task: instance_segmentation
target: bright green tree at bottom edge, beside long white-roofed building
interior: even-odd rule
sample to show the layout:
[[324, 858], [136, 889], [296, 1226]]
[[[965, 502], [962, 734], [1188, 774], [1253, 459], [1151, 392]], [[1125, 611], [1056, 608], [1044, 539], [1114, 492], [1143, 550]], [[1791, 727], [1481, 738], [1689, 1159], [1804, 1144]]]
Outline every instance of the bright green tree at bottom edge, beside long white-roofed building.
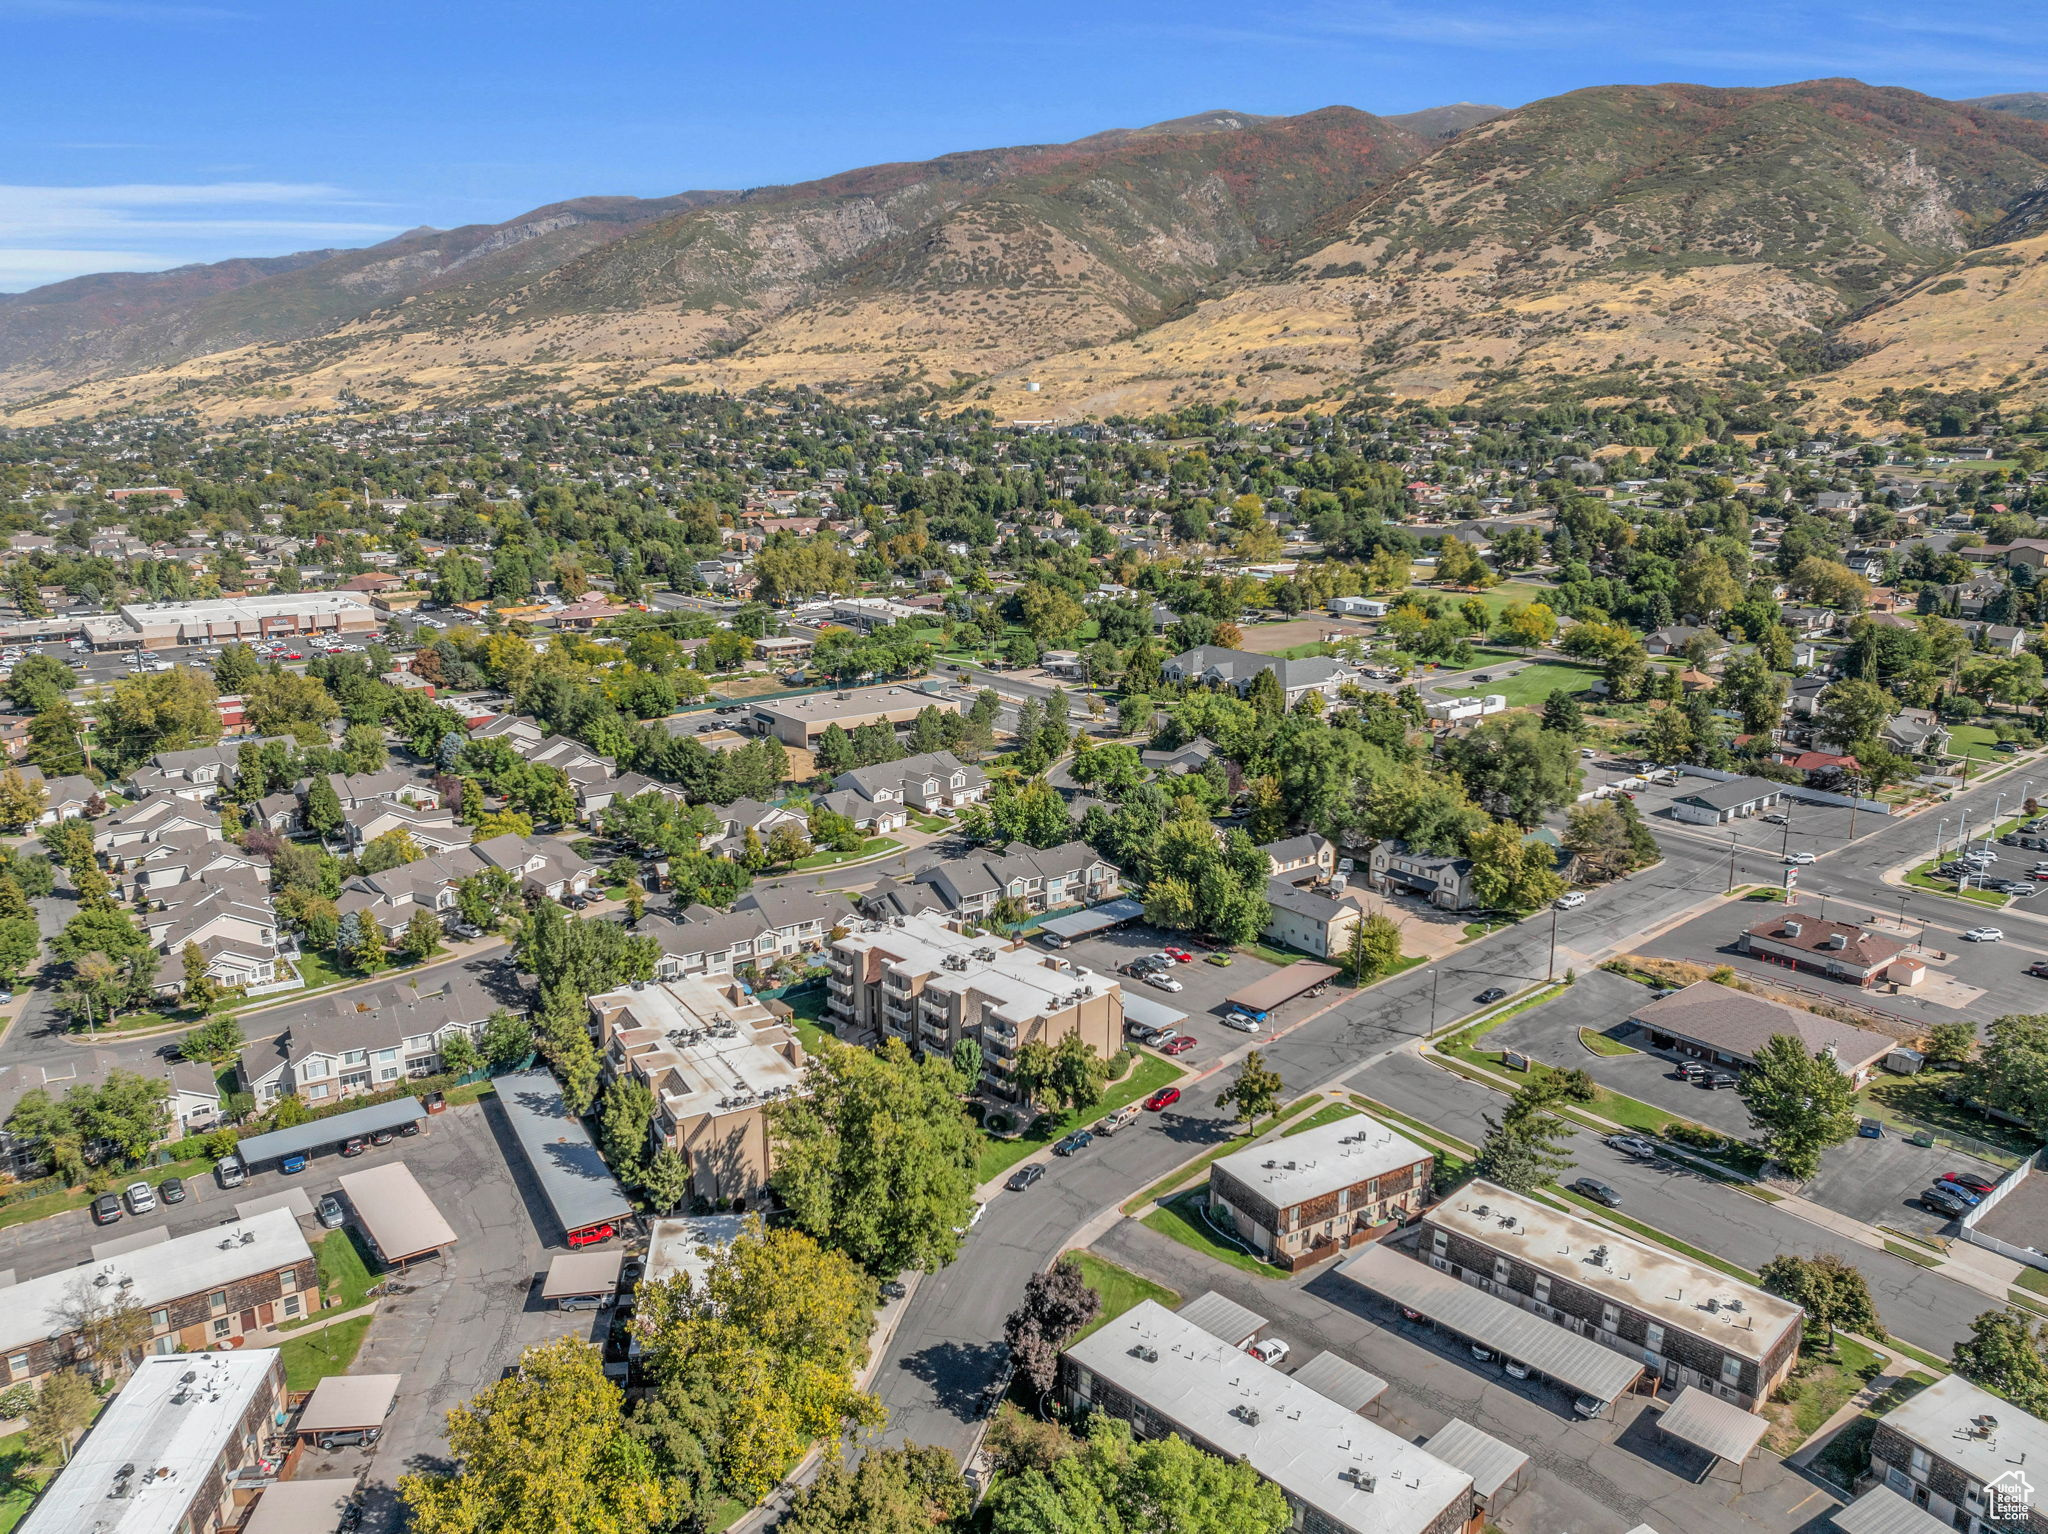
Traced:
[[1280, 1534], [1294, 1520], [1286, 1493], [1245, 1460], [1178, 1434], [1139, 1444], [1108, 1413], [1051, 1468], [997, 1481], [983, 1507], [989, 1534]]

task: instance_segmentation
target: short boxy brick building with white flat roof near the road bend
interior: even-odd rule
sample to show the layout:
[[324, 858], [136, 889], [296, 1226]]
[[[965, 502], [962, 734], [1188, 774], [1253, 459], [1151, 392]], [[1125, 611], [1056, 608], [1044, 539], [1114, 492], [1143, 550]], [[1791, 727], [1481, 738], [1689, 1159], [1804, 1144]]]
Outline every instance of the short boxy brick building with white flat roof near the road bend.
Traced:
[[1436, 1157], [1356, 1114], [1208, 1167], [1208, 1219], [1298, 1268], [1421, 1212]]

